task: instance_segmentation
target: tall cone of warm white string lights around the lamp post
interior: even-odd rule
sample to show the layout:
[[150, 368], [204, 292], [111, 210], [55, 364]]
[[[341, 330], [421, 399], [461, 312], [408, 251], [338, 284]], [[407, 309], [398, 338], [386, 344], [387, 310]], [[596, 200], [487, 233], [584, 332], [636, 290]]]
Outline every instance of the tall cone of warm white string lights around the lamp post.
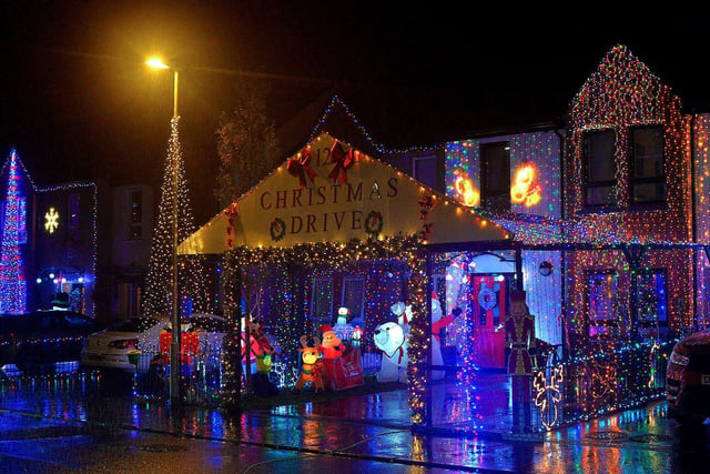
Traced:
[[[173, 295], [169, 289], [173, 288], [174, 188], [176, 188], [178, 192], [178, 242], [182, 242], [196, 230], [185, 180], [185, 168], [178, 130], [179, 121], [180, 117], [173, 117], [171, 121], [168, 158], [158, 208], [158, 224], [153, 233], [145, 294], [141, 307], [143, 315], [168, 315], [172, 313]], [[173, 185], [173, 179], [175, 179], [173, 173], [176, 173], [176, 186]], [[181, 313], [190, 314], [191, 312], [210, 311], [205, 282], [205, 256], [179, 255], [178, 297]]]

